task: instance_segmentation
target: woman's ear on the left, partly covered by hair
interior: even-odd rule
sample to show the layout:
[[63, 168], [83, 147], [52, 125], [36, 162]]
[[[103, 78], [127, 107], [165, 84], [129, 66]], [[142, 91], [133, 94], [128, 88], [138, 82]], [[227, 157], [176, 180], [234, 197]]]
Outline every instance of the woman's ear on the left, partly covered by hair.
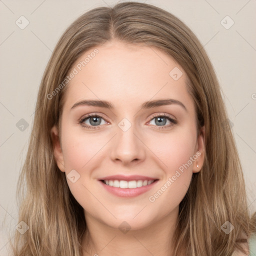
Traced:
[[58, 128], [56, 125], [54, 125], [50, 129], [50, 136], [53, 144], [53, 154], [54, 154], [55, 161], [58, 165], [58, 168], [61, 171], [65, 172], [64, 158], [63, 158], [62, 148], [59, 141]]

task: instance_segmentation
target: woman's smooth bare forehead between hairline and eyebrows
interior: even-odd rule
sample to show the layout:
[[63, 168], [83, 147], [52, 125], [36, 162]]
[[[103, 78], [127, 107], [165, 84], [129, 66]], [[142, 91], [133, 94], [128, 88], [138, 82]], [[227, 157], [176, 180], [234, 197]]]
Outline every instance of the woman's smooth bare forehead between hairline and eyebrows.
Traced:
[[116, 101], [116, 107], [160, 98], [186, 101], [188, 108], [193, 104], [182, 67], [151, 46], [110, 41], [84, 52], [71, 70], [75, 75], [67, 85], [64, 108], [83, 99]]

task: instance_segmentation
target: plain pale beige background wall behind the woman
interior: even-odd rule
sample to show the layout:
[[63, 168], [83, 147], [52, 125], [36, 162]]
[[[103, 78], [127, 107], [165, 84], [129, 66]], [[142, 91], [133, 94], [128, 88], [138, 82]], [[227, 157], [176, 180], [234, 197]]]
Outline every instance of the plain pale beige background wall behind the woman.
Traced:
[[[51, 52], [64, 29], [79, 15], [116, 2], [0, 0], [0, 255], [6, 254], [8, 246], [6, 228], [14, 229], [17, 225], [16, 182], [27, 150], [39, 83]], [[139, 2], [173, 13], [204, 45], [232, 123], [249, 210], [255, 211], [256, 0]], [[20, 16], [29, 21], [24, 29], [15, 23]], [[16, 126], [21, 118], [28, 123], [23, 131]]]

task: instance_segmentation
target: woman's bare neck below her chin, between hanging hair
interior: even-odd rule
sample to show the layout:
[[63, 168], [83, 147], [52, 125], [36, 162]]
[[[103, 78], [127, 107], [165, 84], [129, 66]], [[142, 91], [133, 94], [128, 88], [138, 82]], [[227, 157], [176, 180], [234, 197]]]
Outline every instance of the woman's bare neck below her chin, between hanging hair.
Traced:
[[83, 256], [154, 255], [173, 253], [173, 234], [178, 207], [148, 226], [128, 231], [112, 228], [85, 214], [87, 229], [82, 239]]

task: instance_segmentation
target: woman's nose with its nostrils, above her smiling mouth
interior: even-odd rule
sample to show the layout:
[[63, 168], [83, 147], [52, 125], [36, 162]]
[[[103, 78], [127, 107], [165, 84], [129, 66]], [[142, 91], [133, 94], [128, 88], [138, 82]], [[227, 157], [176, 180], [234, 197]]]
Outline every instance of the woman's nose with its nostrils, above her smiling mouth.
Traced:
[[134, 125], [123, 131], [117, 127], [117, 134], [114, 136], [111, 145], [111, 159], [119, 161], [123, 165], [131, 162], [143, 161], [145, 158], [145, 144], [139, 132], [136, 132]]

